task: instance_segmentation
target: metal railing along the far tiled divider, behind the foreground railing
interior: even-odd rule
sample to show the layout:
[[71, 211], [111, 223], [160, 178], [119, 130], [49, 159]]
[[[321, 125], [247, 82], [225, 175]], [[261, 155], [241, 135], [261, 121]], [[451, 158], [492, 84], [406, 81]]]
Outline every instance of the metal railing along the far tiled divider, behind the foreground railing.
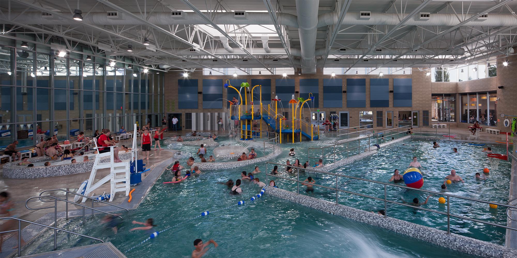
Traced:
[[[388, 134], [386, 134], [386, 132], [389, 132], [389, 131], [397, 131], [396, 133], [393, 133], [393, 134], [390, 134], [390, 135], [389, 135], [389, 136], [391, 136], [391, 137], [393, 137], [393, 136], [394, 136], [394, 138], [396, 138], [396, 139], [397, 139], [397, 138], [399, 138], [399, 137], [400, 137], [400, 134], [405, 134], [405, 133], [407, 132], [407, 131], [399, 132], [399, 128], [404, 128], [404, 127], [407, 127], [407, 126], [391, 128], [391, 129], [389, 129], [389, 130], [385, 130], [385, 131], [381, 131], [381, 132], [377, 132], [377, 133], [370, 133], [370, 134], [367, 134], [367, 135], [366, 135], [366, 136], [367, 136], [366, 138], [362, 138], [362, 139], [356, 139], [356, 140], [353, 140], [353, 141], [347, 141], [347, 142], [335, 143], [335, 144], [327, 145], [327, 146], [324, 146], [324, 147], [308, 148], [308, 149], [307, 149], [307, 157], [308, 157], [308, 159], [309, 159], [309, 163], [310, 163], [311, 158], [323, 159], [323, 158], [330, 157], [330, 156], [332, 156], [332, 162], [335, 162], [335, 161], [336, 161], [336, 158], [337, 158], [337, 155], [338, 155], [338, 154], [341, 154], [341, 153], [344, 153], [344, 152], [346, 152], [346, 157], [349, 157], [349, 153], [350, 153], [350, 151], [352, 151], [352, 150], [359, 149], [359, 148], [361, 148], [361, 147], [366, 147], [366, 146], [368, 146], [368, 149], [369, 149], [370, 147], [372, 147], [372, 137], [373, 137], [373, 136], [376, 136], [376, 135], [378, 135], [378, 136], [381, 136], [381, 135], [388, 135]], [[384, 133], [384, 134], [383, 134], [383, 133]], [[366, 139], [368, 139], [368, 144], [364, 143], [364, 144], [362, 144], [362, 145], [361, 145], [361, 140], [366, 140]], [[379, 144], [379, 143], [380, 143], [380, 142], [379, 142], [379, 140], [380, 140], [380, 139], [381, 139], [380, 137], [377, 137], [377, 138], [376, 138], [376, 144]], [[351, 143], [351, 142], [355, 142], [355, 141], [358, 141], [358, 142], [359, 142], [359, 146], [358, 146], [358, 147], [354, 147], [354, 148], [350, 149], [350, 148], [349, 148], [349, 143]], [[337, 147], [339, 148], [340, 146], [344, 146], [344, 144], [346, 144], [346, 149], [345, 149], [345, 150], [343, 150], [343, 151], [339, 151], [339, 150], [338, 150], [338, 152], [336, 152], [336, 148], [337, 148]], [[332, 151], [330, 154], [325, 155], [325, 150], [327, 150], [327, 149], [329, 149], [329, 148], [332, 148], [332, 149], [333, 149], [333, 151]], [[321, 155], [321, 156], [311, 156], [311, 150], [321, 150], [322, 155]], [[325, 163], [325, 160], [323, 160], [323, 163]]]

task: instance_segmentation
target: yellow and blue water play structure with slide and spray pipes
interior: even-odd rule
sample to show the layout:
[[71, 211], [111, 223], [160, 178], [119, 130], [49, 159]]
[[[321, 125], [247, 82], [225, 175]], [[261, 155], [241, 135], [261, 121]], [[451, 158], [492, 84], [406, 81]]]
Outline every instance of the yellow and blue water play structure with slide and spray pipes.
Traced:
[[[253, 98], [253, 92], [256, 87], [259, 89], [258, 103], [254, 103], [256, 98]], [[303, 105], [308, 101], [314, 100], [312, 93], [309, 93], [307, 100], [301, 97], [295, 98], [295, 94], [293, 94], [291, 100], [288, 101], [291, 110], [284, 112], [282, 100], [278, 96], [275, 96], [275, 99], [271, 99], [267, 107], [263, 105], [262, 85], [255, 85], [250, 88], [248, 83], [241, 83], [240, 89], [237, 89], [230, 84], [230, 80], [226, 80], [224, 88], [234, 89], [239, 95], [237, 103], [230, 101], [230, 119], [234, 121], [234, 128], [240, 128], [236, 130], [240, 130], [241, 140], [252, 140], [257, 135], [262, 137], [263, 131], [265, 131], [263, 130], [262, 121], [267, 125], [267, 131], [279, 133], [280, 143], [282, 143], [283, 138], [292, 143], [295, 142], [296, 138], [298, 138], [296, 139], [297, 141], [301, 141], [302, 137], [308, 140], [317, 140], [319, 138], [320, 128], [301, 120]], [[243, 89], [244, 99], [241, 94]], [[250, 94], [249, 100], [248, 92]], [[283, 114], [288, 115], [286, 117]]]

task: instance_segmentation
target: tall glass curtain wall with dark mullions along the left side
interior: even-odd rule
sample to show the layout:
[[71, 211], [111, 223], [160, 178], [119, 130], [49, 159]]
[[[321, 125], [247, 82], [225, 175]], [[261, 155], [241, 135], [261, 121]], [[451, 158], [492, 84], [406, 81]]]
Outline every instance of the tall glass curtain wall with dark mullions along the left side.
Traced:
[[14, 140], [19, 148], [34, 146], [54, 134], [65, 140], [81, 131], [93, 136], [102, 128], [161, 124], [163, 74], [124, 63], [111, 67], [105, 58], [54, 54], [44, 45], [0, 43], [0, 148]]

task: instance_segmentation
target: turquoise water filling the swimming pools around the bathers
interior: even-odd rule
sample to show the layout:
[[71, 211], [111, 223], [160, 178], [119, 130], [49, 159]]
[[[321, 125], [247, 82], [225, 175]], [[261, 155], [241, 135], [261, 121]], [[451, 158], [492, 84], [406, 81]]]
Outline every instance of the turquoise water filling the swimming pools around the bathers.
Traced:
[[[229, 144], [233, 141], [229, 138], [220, 137], [219, 142]], [[285, 163], [286, 159], [293, 162], [295, 158], [298, 158], [303, 163], [307, 160], [307, 148], [309, 146], [321, 147], [328, 145], [329, 142], [331, 142], [331, 139], [322, 137], [322, 140], [315, 142], [284, 143], [281, 146], [282, 154], [271, 161]], [[403, 143], [406, 145], [402, 145]], [[377, 154], [357, 160], [332, 172], [387, 182], [394, 168], [403, 170], [408, 165], [410, 157], [419, 156], [419, 160], [424, 167], [425, 183], [423, 189], [439, 191], [439, 185], [442, 184], [444, 176], [448, 174], [450, 169], [455, 168], [458, 174], [466, 180], [466, 183], [450, 185], [448, 191], [465, 197], [497, 202], [507, 201], [510, 171], [508, 164], [501, 161], [498, 170], [492, 171], [488, 180], [475, 181], [474, 173], [488, 165], [486, 155], [480, 153], [482, 147], [469, 146], [465, 142], [458, 141], [442, 140], [439, 143], [442, 147], [433, 149], [429, 141], [406, 140], [395, 143], [391, 147], [383, 148]], [[358, 146], [358, 143], [354, 142], [349, 144], [349, 148], [353, 148], [353, 144]], [[452, 153], [453, 147], [459, 149], [458, 154]], [[295, 157], [287, 155], [291, 148], [295, 148], [297, 152]], [[502, 147], [497, 146], [492, 146], [492, 148], [495, 153], [500, 153], [503, 150]], [[181, 150], [185, 153], [195, 154], [197, 147], [184, 146]], [[208, 155], [211, 154], [211, 150], [213, 148], [208, 148]], [[260, 149], [256, 149], [256, 151], [260, 156], [262, 151]], [[346, 157], [346, 153], [341, 155]], [[449, 160], [450, 157], [454, 159]], [[199, 158], [196, 158], [196, 160], [199, 160]], [[181, 162], [185, 165], [184, 160], [181, 160]], [[256, 165], [263, 172], [255, 176], [266, 182], [265, 165]], [[99, 216], [96, 219], [90, 219], [84, 226], [80, 219], [74, 219], [65, 228], [112, 241], [128, 257], [186, 257], [193, 250], [192, 242], [195, 238], [202, 238], [203, 240], [213, 238], [216, 240], [220, 246], [216, 249], [212, 248], [207, 255], [215, 257], [465, 257], [464, 254], [437, 248], [418, 240], [315, 211], [282, 199], [270, 197], [267, 194], [264, 198], [250, 203], [248, 201], [249, 197], [255, 195], [261, 188], [249, 182], [243, 183], [244, 194], [242, 196], [230, 195], [229, 189], [225, 185], [218, 184], [228, 179], [235, 181], [239, 178], [240, 171], [250, 172], [253, 168], [254, 165], [232, 170], [203, 171], [199, 177], [189, 179], [185, 183], [163, 185], [162, 182], [170, 181], [172, 178], [171, 172], [168, 171], [151, 188], [136, 211], [123, 214], [126, 221], [121, 225], [117, 235], [102, 228], [99, 223]], [[268, 166], [268, 168], [271, 170], [272, 166]], [[279, 171], [283, 170], [279, 169]], [[294, 177], [294, 175], [283, 172], [281, 175]], [[307, 177], [308, 175], [313, 176], [317, 180], [317, 184], [335, 186], [333, 177], [316, 173], [306, 173], [303, 176]], [[302, 175], [300, 175], [300, 178], [302, 178]], [[280, 188], [296, 191], [297, 186], [293, 182], [275, 180]], [[366, 195], [384, 197], [384, 188], [372, 184], [340, 179], [338, 187]], [[315, 188], [314, 197], [335, 201], [334, 192], [324, 188]], [[303, 187], [300, 189], [300, 192], [305, 194]], [[389, 199], [399, 201], [401, 197], [407, 201], [415, 197], [424, 199], [424, 195], [416, 190], [388, 188]], [[424, 207], [445, 211], [446, 206], [438, 204], [437, 199], [438, 197], [432, 197]], [[143, 221], [146, 218], [154, 218], [158, 224], [156, 230], [161, 231], [198, 216], [203, 211], [224, 208], [235, 204], [239, 200], [246, 200], [246, 205], [234, 206], [212, 213], [207, 217], [190, 220], [179, 227], [161, 233], [158, 238], [126, 252], [148, 236], [148, 233], [145, 232], [128, 232], [130, 228], [135, 227], [130, 222], [133, 219]], [[384, 208], [384, 202], [345, 193], [339, 194], [339, 202], [366, 211]], [[451, 212], [492, 222], [502, 223], [506, 221], [504, 209], [494, 210], [485, 204], [478, 205], [461, 200], [451, 199]], [[442, 215], [422, 211], [414, 212], [412, 208], [388, 204], [388, 216], [446, 230], [447, 219]], [[66, 222], [62, 222], [60, 225], [64, 223]], [[451, 231], [498, 244], [503, 242], [505, 233], [504, 230], [495, 227], [453, 218], [451, 218]], [[47, 236], [51, 237], [52, 233], [47, 233]], [[66, 234], [59, 234], [59, 237], [59, 248], [94, 243], [89, 240], [79, 240], [75, 236], [67, 236]], [[38, 239], [37, 243], [29, 247], [25, 254], [47, 251], [43, 250], [44, 248], [48, 248], [50, 251], [52, 245], [45, 244], [48, 239], [47, 237]], [[37, 248], [38, 246], [39, 248]]]

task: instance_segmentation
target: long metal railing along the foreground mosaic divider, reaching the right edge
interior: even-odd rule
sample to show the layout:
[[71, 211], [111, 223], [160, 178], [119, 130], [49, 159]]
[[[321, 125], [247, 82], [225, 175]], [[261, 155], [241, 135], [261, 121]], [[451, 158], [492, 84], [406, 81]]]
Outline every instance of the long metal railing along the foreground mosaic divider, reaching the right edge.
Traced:
[[[278, 174], [277, 175], [275, 175], [275, 174], [268, 174], [267, 173], [267, 171], [269, 171], [268, 168], [267, 168], [268, 164], [272, 164], [272, 165], [276, 165], [276, 166], [284, 166], [284, 167], [294, 168], [293, 170], [296, 170], [296, 179], [286, 178], [285, 176], [281, 176], [281, 175], [278, 175]], [[322, 188], [329, 189], [329, 190], [335, 190], [336, 191], [336, 204], [339, 204], [338, 192], [344, 192], [344, 193], [348, 193], [348, 194], [351, 194], [351, 195], [366, 197], [366, 198], [370, 198], [370, 199], [374, 199], [374, 200], [378, 200], [378, 201], [384, 201], [384, 217], [388, 216], [387, 215], [388, 214], [388, 206], [387, 206], [388, 203], [399, 204], [399, 205], [406, 206], [406, 207], [412, 207], [412, 208], [415, 208], [415, 209], [421, 209], [422, 211], [427, 211], [427, 212], [432, 212], [432, 213], [437, 213], [437, 214], [445, 215], [445, 216], [447, 216], [447, 234], [450, 234], [450, 218], [451, 217], [459, 218], [459, 219], [465, 219], [465, 220], [469, 220], [469, 221], [474, 221], [474, 222], [478, 222], [478, 223], [482, 223], [482, 224], [493, 225], [493, 226], [496, 226], [496, 227], [499, 227], [499, 228], [504, 228], [504, 229], [509, 229], [509, 230], [517, 230], [517, 228], [508, 227], [506, 225], [501, 225], [501, 224], [496, 224], [496, 223], [492, 223], [492, 222], [488, 222], [488, 221], [483, 221], [483, 220], [479, 220], [479, 219], [467, 218], [467, 217], [463, 217], [463, 216], [460, 216], [460, 215], [451, 214], [450, 213], [450, 198], [458, 198], [458, 199], [462, 199], [462, 200], [474, 201], [474, 202], [485, 203], [485, 204], [494, 204], [494, 205], [508, 207], [508, 208], [517, 208], [517, 206], [503, 204], [503, 203], [497, 203], [497, 202], [483, 201], [483, 200], [478, 200], [478, 199], [468, 198], [468, 197], [462, 197], [462, 196], [456, 196], [456, 195], [451, 195], [450, 193], [446, 193], [446, 192], [436, 192], [436, 191], [430, 191], [430, 190], [417, 189], [417, 188], [412, 188], [412, 187], [408, 187], [408, 186], [395, 185], [395, 184], [384, 183], [384, 182], [379, 182], [379, 181], [374, 181], [374, 180], [369, 180], [369, 179], [355, 178], [354, 176], [349, 176], [349, 175], [342, 175], [342, 174], [336, 174], [336, 173], [331, 173], [331, 172], [318, 171], [318, 170], [314, 170], [314, 169], [310, 169], [310, 168], [303, 168], [303, 170], [305, 170], [305, 171], [310, 171], [310, 172], [314, 172], [314, 173], [323, 173], [323, 174], [335, 176], [336, 177], [336, 187], [332, 188], [332, 187], [328, 187], [328, 186], [324, 186], [324, 185], [318, 185], [318, 184], [312, 184], [312, 183], [309, 183], [309, 182], [300, 181], [299, 169], [300, 169], [299, 167], [296, 167], [296, 166], [293, 166], [293, 165], [285, 165], [285, 164], [279, 164], [279, 163], [273, 163], [273, 162], [266, 162], [266, 182], [268, 182], [268, 180], [269, 180], [268, 176], [273, 176], [275, 178], [280, 178], [280, 179], [285, 179], [285, 180], [288, 180], [288, 181], [297, 182], [298, 194], [300, 194], [300, 183], [308, 184], [308, 185], [312, 185], [312, 186], [317, 186], [317, 187], [322, 187]], [[351, 180], [359, 180], [359, 181], [363, 181], [363, 182], [369, 182], [369, 183], [375, 183], [375, 184], [383, 185], [384, 186], [384, 198], [378, 198], [378, 197], [373, 197], [373, 196], [369, 196], [369, 195], [363, 195], [362, 193], [357, 193], [357, 192], [352, 192], [352, 191], [347, 191], [347, 190], [339, 189], [338, 188], [338, 178], [346, 178], [346, 179], [351, 179]], [[409, 189], [410, 190], [417, 190], [417, 191], [421, 191], [421, 192], [427, 192], [427, 193], [430, 193], [432, 195], [446, 196], [447, 197], [447, 199], [446, 199], [447, 200], [447, 212], [435, 211], [433, 209], [422, 208], [420, 206], [414, 206], [414, 205], [410, 205], [410, 204], [406, 204], [406, 203], [401, 203], [401, 202], [396, 202], [396, 201], [388, 200], [386, 198], [386, 196], [387, 196], [386, 187], [387, 186], [398, 187], [398, 188], [408, 189], [408, 190]]]

